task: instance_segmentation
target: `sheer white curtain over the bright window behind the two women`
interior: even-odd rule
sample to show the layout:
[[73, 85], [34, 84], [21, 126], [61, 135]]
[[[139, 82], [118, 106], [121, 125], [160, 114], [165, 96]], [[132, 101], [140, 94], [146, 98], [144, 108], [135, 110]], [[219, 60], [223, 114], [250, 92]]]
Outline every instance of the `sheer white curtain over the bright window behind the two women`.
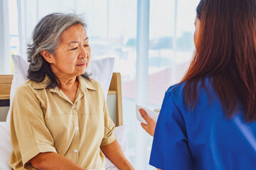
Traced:
[[32, 30], [43, 16], [74, 11], [84, 15], [92, 58], [115, 57], [114, 72], [122, 74], [129, 159], [135, 169], [154, 169], [149, 166], [152, 137], [140, 127], [135, 104], [160, 108], [166, 89], [183, 77], [193, 55], [199, 0], [9, 1], [16, 1], [18, 8], [17, 53], [24, 58]]

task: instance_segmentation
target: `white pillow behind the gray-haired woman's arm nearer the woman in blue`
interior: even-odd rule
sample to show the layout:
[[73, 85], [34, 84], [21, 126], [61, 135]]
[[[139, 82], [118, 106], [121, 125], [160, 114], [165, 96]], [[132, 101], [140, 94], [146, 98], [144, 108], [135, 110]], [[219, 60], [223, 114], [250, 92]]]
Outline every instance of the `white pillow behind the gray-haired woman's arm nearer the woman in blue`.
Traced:
[[[128, 149], [127, 149], [126, 127], [125, 127], [125, 125], [117, 126], [116, 128], [114, 128], [113, 132], [114, 132], [114, 137], [117, 139], [117, 142], [119, 143], [119, 145], [122, 149], [122, 152], [124, 152], [124, 156], [128, 159], [129, 158], [129, 152], [128, 152]], [[115, 166], [110, 161], [110, 159], [108, 159], [107, 157], [105, 157], [105, 159], [106, 159], [105, 167], [106, 167], [107, 170], [119, 170], [117, 168], [117, 166]]]

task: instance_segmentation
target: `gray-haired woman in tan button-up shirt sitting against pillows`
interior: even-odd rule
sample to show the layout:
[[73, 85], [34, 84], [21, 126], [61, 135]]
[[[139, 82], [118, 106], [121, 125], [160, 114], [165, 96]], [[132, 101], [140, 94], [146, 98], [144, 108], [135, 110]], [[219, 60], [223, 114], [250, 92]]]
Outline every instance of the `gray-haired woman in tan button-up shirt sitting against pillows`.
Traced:
[[[100, 84], [85, 73], [86, 24], [75, 14], [39, 21], [28, 45], [28, 81], [11, 108], [13, 169], [133, 169], [112, 130]], [[104, 153], [104, 154], [103, 154]]]

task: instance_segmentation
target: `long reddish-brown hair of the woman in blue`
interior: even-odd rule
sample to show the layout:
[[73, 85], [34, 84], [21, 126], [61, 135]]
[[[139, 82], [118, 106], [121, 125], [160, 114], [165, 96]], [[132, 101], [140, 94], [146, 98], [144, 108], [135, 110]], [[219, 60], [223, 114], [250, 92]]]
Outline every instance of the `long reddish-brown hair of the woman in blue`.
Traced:
[[245, 120], [256, 120], [256, 1], [201, 0], [197, 14], [198, 47], [182, 80], [188, 107], [210, 77], [228, 118], [242, 104]]

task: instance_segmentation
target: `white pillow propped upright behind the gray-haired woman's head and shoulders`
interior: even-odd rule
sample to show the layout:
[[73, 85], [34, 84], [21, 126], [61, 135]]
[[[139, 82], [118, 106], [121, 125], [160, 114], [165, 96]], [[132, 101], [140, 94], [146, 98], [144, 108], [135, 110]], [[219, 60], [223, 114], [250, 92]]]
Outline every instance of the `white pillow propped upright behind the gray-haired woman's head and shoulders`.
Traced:
[[[10, 93], [10, 106], [14, 100], [14, 94], [18, 86], [21, 86], [27, 78], [28, 71], [28, 62], [24, 60], [19, 55], [12, 55], [14, 61], [14, 79], [11, 84], [11, 93]], [[102, 85], [102, 89], [107, 99], [107, 92], [110, 88], [110, 81], [113, 74], [114, 68], [114, 57], [107, 57], [100, 60], [90, 60], [90, 64], [86, 69], [88, 74], [91, 74], [90, 78], [95, 79]], [[11, 107], [10, 107], [11, 108]], [[6, 122], [10, 122], [10, 112], [9, 109]]]

